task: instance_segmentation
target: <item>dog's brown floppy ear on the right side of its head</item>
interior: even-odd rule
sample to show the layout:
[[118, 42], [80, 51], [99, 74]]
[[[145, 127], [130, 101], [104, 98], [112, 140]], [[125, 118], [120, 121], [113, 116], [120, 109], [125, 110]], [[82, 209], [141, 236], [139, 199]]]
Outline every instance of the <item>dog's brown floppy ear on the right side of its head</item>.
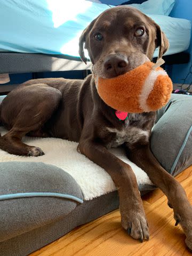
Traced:
[[156, 26], [156, 47], [159, 47], [158, 58], [162, 58], [163, 54], [169, 49], [169, 41], [166, 38], [165, 34], [161, 30], [161, 28], [155, 24]]

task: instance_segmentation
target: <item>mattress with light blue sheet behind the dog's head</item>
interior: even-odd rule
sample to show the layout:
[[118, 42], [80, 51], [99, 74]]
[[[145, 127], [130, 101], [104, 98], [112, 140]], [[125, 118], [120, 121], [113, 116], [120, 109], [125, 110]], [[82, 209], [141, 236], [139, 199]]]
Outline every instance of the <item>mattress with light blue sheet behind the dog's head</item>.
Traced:
[[[83, 29], [109, 9], [85, 0], [0, 1], [0, 52], [65, 54], [78, 57]], [[167, 55], [188, 49], [191, 22], [165, 15], [149, 15], [170, 41]], [[154, 57], [157, 57], [157, 50]]]

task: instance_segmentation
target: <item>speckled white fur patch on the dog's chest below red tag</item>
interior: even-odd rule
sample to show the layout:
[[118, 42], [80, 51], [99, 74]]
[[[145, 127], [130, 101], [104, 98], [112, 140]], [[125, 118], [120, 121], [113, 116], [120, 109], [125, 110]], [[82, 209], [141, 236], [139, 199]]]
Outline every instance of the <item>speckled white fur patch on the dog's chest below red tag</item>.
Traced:
[[125, 142], [133, 144], [141, 138], [146, 140], [146, 142], [149, 140], [148, 131], [143, 131], [140, 128], [133, 126], [124, 127], [121, 131], [115, 128], [107, 128], [107, 130], [116, 133], [115, 138], [108, 143], [107, 148], [118, 147]]

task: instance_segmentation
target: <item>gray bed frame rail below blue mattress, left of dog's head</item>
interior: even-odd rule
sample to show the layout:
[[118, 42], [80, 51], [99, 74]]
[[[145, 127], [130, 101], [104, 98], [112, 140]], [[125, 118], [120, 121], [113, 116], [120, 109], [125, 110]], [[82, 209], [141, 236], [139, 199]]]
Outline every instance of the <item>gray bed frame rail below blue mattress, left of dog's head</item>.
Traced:
[[43, 53], [0, 53], [0, 73], [35, 73], [49, 71], [85, 70], [91, 68], [80, 58]]

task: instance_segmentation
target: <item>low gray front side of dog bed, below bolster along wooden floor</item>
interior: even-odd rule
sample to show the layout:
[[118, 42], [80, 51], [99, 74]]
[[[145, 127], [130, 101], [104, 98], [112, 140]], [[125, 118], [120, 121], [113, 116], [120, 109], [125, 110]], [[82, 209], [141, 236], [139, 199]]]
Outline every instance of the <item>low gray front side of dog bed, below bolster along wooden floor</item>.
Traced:
[[[67, 234], [79, 225], [97, 219], [118, 208], [117, 191], [84, 201], [70, 214], [47, 225], [30, 230], [0, 243], [1, 256], [25, 256]], [[38, 254], [38, 252], [37, 252]], [[46, 253], [45, 253], [46, 255]], [[51, 254], [51, 255], [54, 255]], [[65, 256], [65, 253], [59, 255]], [[102, 255], [102, 254], [101, 254]]]

